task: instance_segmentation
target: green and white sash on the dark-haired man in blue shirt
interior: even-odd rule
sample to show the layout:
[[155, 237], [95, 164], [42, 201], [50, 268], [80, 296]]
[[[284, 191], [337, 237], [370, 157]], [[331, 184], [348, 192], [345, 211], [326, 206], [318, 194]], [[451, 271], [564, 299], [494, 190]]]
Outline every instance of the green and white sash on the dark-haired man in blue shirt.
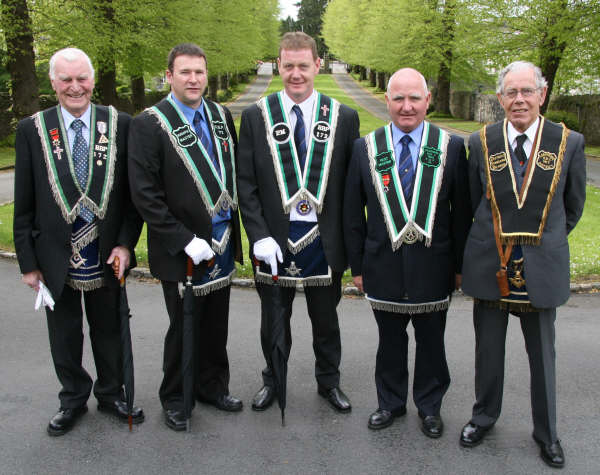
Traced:
[[192, 176], [206, 211], [211, 217], [230, 207], [237, 209], [235, 151], [225, 112], [219, 104], [204, 99], [204, 111], [215, 138], [215, 154], [220, 172], [177, 105], [166, 98], [146, 109], [167, 133], [173, 148]]

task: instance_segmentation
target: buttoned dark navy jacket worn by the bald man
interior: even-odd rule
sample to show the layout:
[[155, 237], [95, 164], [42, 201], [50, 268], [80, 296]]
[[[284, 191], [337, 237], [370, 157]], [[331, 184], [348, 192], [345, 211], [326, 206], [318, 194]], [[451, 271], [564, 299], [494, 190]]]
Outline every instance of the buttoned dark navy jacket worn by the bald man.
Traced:
[[365, 293], [416, 303], [446, 298], [454, 290], [454, 275], [461, 273], [470, 223], [465, 146], [460, 137], [451, 136], [431, 246], [417, 241], [394, 252], [373, 186], [365, 139], [354, 143], [346, 180], [344, 233], [352, 275], [362, 275]]

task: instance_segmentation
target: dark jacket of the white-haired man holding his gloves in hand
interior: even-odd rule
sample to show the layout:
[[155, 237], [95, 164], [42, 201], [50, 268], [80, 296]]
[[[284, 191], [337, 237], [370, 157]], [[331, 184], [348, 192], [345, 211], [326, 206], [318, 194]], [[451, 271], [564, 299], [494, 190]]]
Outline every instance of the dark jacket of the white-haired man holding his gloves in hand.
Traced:
[[[104, 219], [98, 220], [100, 261], [112, 249], [125, 246], [131, 253], [130, 268], [136, 266], [134, 248], [142, 220], [131, 203], [127, 180], [127, 135], [131, 117], [119, 112], [115, 178]], [[52, 296], [63, 290], [71, 257], [72, 224], [67, 223], [52, 195], [40, 136], [32, 117], [19, 122], [16, 136], [14, 238], [23, 274], [42, 272]], [[104, 264], [105, 284], [118, 285], [111, 267]]]

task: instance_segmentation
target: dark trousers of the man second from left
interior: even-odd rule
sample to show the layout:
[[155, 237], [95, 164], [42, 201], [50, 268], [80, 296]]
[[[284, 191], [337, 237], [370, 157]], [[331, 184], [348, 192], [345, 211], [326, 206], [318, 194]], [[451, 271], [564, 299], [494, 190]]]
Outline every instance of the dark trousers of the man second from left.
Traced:
[[[181, 355], [183, 348], [183, 299], [177, 282], [162, 282], [169, 329], [165, 335], [163, 380], [158, 391], [164, 409], [183, 408]], [[229, 294], [231, 286], [194, 297], [194, 394], [214, 401], [229, 394]]]

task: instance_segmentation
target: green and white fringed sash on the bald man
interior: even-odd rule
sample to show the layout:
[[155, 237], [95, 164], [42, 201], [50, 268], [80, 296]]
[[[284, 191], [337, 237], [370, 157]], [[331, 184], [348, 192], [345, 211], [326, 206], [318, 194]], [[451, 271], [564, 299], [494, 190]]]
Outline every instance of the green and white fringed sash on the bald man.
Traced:
[[392, 124], [365, 137], [373, 186], [395, 251], [425, 239], [431, 245], [437, 198], [446, 164], [448, 133], [425, 121], [410, 207], [402, 191], [392, 140]]

